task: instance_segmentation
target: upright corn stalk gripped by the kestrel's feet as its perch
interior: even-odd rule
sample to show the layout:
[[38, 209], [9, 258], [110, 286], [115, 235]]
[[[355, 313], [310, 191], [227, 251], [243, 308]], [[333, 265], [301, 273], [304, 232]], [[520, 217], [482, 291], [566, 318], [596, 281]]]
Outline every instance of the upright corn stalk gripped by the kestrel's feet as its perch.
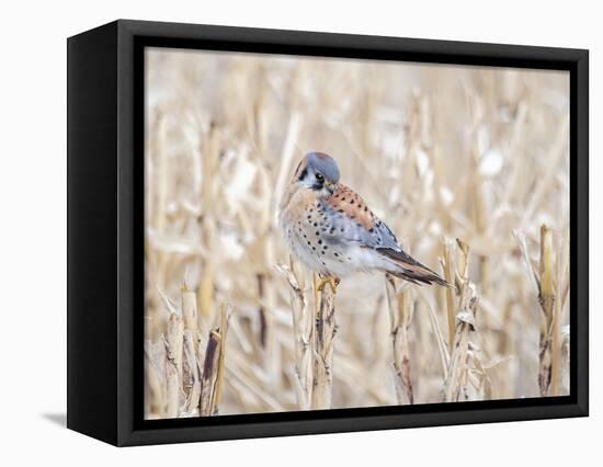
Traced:
[[[315, 281], [316, 287], [316, 281]], [[333, 398], [333, 339], [335, 326], [335, 295], [330, 284], [316, 291], [314, 330], [312, 409], [331, 409]]]

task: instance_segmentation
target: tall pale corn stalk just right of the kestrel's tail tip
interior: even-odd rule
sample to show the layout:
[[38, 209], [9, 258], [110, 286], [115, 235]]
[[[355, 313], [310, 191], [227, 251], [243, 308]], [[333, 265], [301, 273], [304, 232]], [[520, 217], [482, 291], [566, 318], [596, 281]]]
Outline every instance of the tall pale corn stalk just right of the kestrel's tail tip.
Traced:
[[454, 342], [444, 381], [444, 402], [456, 402], [468, 398], [469, 358], [473, 351], [470, 335], [476, 329], [477, 294], [475, 284], [469, 281], [469, 247], [458, 239], [456, 242], [459, 249], [459, 271], [457, 271], [459, 291]]

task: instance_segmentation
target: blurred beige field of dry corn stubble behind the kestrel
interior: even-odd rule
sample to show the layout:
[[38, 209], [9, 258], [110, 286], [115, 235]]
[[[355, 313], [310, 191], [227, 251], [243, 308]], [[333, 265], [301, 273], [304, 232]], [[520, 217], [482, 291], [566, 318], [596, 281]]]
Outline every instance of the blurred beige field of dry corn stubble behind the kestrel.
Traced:
[[568, 123], [565, 72], [148, 49], [146, 417], [310, 408], [276, 212], [311, 150], [457, 285], [342, 281], [333, 408], [569, 394]]

